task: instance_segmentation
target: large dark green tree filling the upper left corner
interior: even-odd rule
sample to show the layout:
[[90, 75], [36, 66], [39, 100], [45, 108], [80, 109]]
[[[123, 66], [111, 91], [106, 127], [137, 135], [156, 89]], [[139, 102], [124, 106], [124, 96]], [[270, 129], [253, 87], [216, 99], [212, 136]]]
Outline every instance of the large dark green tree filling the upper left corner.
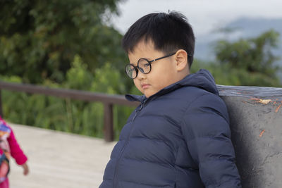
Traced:
[[118, 1], [0, 0], [0, 74], [61, 83], [76, 54], [90, 73], [104, 62], [121, 70], [121, 34], [108, 24]]

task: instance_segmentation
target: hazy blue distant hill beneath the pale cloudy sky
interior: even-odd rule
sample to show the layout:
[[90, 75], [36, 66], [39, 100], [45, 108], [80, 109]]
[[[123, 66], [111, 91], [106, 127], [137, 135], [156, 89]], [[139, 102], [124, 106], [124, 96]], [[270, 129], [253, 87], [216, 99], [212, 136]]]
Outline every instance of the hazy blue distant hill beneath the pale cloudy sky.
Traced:
[[281, 56], [281, 60], [277, 62], [282, 66], [282, 18], [266, 19], [266, 18], [239, 18], [227, 25], [222, 25], [222, 28], [235, 29], [235, 32], [230, 35], [224, 35], [218, 31], [202, 35], [196, 39], [195, 58], [202, 60], [214, 60], [214, 52], [212, 44], [220, 38], [239, 39], [245, 37], [257, 37], [267, 30], [274, 29], [280, 33], [279, 48], [274, 51], [274, 54]]

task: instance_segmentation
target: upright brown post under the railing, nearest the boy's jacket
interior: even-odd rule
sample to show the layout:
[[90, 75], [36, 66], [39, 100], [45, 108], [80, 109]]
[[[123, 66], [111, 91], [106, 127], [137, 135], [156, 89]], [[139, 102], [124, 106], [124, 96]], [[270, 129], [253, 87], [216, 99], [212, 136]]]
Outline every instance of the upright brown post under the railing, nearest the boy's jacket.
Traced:
[[114, 141], [113, 104], [104, 103], [104, 139], [106, 142]]

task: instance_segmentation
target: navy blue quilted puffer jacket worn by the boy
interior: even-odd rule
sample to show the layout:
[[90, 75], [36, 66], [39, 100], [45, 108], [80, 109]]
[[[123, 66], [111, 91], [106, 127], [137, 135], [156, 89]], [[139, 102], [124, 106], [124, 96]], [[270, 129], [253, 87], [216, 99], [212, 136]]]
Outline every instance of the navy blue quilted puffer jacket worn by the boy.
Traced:
[[240, 186], [228, 112], [207, 70], [140, 101], [106, 165], [100, 188]]

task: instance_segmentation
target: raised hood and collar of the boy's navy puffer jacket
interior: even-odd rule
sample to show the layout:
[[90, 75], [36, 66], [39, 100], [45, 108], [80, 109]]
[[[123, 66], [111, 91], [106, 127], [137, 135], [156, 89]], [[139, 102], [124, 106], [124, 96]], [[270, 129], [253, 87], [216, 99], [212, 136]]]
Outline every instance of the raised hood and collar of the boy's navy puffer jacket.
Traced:
[[[200, 69], [197, 73], [187, 75], [182, 80], [164, 87], [164, 89], [161, 89], [159, 92], [150, 96], [149, 98], [166, 94], [180, 87], [188, 86], [200, 87], [207, 92], [219, 95], [219, 91], [217, 90], [216, 83], [214, 82], [214, 77], [212, 77], [212, 74], [209, 73], [208, 70]], [[145, 95], [138, 96], [132, 94], [126, 94], [125, 98], [128, 99], [128, 101], [140, 101], [141, 103], [147, 99]]]

